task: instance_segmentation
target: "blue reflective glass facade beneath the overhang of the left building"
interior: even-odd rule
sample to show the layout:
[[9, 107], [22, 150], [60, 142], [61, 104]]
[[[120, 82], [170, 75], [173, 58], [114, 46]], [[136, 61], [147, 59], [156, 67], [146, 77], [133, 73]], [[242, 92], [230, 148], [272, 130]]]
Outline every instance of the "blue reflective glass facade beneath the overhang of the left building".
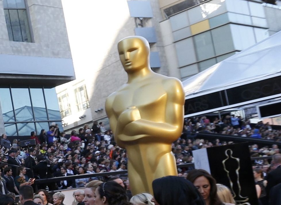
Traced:
[[0, 102], [8, 136], [40, 134], [52, 122], [63, 130], [55, 88], [2, 87]]

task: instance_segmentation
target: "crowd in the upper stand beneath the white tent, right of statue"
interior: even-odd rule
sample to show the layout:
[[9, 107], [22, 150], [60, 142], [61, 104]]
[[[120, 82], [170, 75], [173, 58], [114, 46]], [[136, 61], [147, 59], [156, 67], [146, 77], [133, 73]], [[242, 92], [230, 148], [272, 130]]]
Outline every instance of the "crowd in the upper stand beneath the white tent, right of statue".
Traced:
[[249, 119], [243, 119], [241, 116], [235, 115], [226, 115], [222, 119], [215, 117], [213, 120], [206, 116], [186, 118], [184, 121], [185, 137], [197, 132], [281, 141], [281, 130], [272, 129], [269, 122], [263, 124], [263, 121], [259, 121], [251, 126]]

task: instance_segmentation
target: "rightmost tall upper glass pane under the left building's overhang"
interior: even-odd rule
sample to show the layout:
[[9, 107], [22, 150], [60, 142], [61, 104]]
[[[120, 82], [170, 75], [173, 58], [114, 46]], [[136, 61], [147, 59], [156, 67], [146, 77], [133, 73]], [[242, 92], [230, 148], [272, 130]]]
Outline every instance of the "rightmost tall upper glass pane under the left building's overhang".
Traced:
[[49, 120], [61, 120], [55, 88], [44, 89]]

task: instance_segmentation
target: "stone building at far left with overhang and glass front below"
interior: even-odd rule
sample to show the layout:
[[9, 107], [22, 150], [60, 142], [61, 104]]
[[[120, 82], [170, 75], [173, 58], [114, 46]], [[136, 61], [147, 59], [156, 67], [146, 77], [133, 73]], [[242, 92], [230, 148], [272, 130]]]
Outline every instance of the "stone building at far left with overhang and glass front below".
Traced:
[[62, 129], [54, 87], [75, 74], [61, 1], [1, 0], [0, 25], [0, 133]]

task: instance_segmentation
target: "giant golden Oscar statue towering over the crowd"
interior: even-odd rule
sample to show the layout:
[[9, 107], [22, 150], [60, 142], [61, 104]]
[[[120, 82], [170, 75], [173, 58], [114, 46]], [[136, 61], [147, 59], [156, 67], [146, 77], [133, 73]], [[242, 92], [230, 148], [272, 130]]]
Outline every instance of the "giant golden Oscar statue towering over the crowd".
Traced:
[[128, 153], [132, 193], [152, 191], [152, 181], [177, 175], [171, 144], [182, 133], [182, 83], [153, 72], [149, 43], [131, 36], [118, 43], [128, 82], [109, 95], [105, 110], [117, 144]]

